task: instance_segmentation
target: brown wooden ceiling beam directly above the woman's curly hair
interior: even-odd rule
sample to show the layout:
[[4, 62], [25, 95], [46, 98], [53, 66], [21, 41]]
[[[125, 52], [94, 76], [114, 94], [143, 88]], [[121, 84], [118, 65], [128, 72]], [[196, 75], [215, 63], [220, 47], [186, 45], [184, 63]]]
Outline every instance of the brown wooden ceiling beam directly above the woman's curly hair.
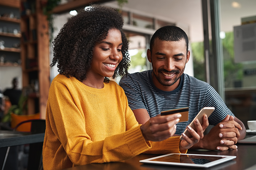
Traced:
[[64, 12], [70, 12], [72, 10], [84, 8], [93, 3], [104, 3], [109, 1], [113, 1], [113, 0], [74, 0], [68, 3], [56, 6], [54, 9], [52, 9], [52, 13], [61, 14]]

